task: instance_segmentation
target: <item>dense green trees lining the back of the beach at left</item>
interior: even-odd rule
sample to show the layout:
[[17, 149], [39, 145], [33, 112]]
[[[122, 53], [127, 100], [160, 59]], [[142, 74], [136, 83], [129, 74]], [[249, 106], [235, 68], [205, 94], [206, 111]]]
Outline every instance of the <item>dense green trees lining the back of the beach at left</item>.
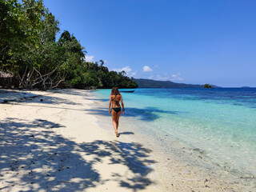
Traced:
[[125, 71], [109, 71], [104, 62], [86, 62], [86, 51], [64, 31], [42, 0], [0, 0], [1, 86], [26, 89], [74, 87], [135, 88]]

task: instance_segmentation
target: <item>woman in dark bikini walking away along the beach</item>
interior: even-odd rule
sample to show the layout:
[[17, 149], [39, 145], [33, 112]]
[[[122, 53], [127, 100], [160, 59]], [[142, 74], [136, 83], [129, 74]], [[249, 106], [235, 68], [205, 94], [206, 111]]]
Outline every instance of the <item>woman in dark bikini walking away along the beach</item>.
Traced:
[[[110, 110], [112, 102], [112, 113]], [[125, 114], [125, 108], [122, 102], [122, 95], [120, 94], [118, 87], [113, 87], [110, 94], [110, 103], [109, 103], [109, 113], [112, 115], [112, 122], [114, 126], [114, 132], [116, 137], [118, 138], [118, 121], [121, 114], [121, 106], [119, 104], [121, 102], [122, 105], [122, 114]]]

